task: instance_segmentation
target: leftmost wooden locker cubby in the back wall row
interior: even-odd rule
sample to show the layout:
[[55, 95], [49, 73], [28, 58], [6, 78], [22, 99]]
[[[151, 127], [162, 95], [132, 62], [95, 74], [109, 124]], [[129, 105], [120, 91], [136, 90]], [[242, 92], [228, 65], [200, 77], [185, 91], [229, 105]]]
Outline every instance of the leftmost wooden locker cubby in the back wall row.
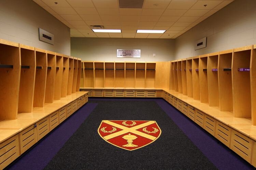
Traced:
[[84, 87], [94, 88], [94, 63], [84, 62]]

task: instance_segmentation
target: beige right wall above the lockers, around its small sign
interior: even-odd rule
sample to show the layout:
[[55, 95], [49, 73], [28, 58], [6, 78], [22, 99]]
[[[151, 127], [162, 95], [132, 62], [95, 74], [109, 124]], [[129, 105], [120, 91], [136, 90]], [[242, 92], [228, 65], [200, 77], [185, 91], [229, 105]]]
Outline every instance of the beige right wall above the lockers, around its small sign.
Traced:
[[[207, 47], [194, 42], [207, 37]], [[175, 39], [175, 60], [256, 44], [256, 0], [234, 0]]]

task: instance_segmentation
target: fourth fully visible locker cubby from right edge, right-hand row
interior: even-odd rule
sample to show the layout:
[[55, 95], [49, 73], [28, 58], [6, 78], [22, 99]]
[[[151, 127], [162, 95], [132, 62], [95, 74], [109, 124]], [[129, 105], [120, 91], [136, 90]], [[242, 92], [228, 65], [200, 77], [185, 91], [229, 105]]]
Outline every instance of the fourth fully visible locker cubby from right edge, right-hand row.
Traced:
[[201, 103], [209, 103], [208, 78], [207, 78], [208, 54], [200, 55], [199, 58], [199, 86]]

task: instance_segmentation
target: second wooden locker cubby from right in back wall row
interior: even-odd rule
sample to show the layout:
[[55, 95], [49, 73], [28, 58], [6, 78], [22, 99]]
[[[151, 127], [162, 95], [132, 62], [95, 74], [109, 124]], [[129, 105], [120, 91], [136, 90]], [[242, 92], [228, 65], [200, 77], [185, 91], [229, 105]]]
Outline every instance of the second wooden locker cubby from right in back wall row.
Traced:
[[135, 88], [145, 88], [145, 67], [146, 63], [136, 62]]

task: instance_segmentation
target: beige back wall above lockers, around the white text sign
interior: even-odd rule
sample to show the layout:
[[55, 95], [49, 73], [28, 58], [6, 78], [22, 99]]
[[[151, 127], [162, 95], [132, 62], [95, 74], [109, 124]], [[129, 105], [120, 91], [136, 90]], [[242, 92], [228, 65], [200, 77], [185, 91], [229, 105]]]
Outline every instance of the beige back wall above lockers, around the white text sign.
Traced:
[[[141, 49], [141, 58], [117, 58], [117, 49]], [[71, 56], [82, 61], [171, 61], [173, 54], [174, 39], [71, 37]]]

